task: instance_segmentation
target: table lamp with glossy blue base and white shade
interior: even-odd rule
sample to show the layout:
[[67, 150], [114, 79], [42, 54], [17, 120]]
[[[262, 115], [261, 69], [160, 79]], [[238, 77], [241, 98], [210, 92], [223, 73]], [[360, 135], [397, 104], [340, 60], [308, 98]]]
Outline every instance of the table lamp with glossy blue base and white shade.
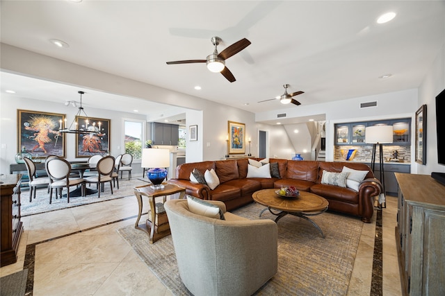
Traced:
[[165, 177], [167, 177], [167, 170], [170, 167], [170, 150], [168, 149], [154, 149], [145, 148], [142, 150], [143, 168], [149, 168], [147, 171], [148, 179], [153, 183], [152, 189], [163, 189], [162, 184]]

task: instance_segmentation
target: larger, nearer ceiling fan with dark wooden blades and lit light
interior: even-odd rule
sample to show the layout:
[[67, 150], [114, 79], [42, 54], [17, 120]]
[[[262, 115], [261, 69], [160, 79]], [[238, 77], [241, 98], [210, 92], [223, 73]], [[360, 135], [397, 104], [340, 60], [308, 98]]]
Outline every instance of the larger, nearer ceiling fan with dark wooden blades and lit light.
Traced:
[[211, 37], [211, 43], [215, 46], [215, 51], [213, 51], [211, 55], [207, 55], [206, 60], [177, 60], [174, 62], [167, 62], [167, 64], [191, 64], [195, 62], [205, 62], [207, 63], [207, 69], [215, 73], [220, 72], [225, 78], [227, 78], [227, 80], [234, 82], [236, 79], [232, 72], [225, 67], [225, 60], [249, 46], [250, 41], [243, 38], [218, 53], [217, 46], [221, 41], [222, 40], [220, 37]]

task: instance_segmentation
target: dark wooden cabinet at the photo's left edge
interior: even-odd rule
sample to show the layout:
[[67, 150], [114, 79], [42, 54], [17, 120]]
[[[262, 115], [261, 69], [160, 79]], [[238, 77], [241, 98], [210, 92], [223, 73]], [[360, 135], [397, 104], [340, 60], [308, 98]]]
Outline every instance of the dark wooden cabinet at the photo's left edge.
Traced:
[[21, 178], [20, 174], [0, 176], [1, 266], [17, 262], [17, 250], [23, 232], [20, 221]]

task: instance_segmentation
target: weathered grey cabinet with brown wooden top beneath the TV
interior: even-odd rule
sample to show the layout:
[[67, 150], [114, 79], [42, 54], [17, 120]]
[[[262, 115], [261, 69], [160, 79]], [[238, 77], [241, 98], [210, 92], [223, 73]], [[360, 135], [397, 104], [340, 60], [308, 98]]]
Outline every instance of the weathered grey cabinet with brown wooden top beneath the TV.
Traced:
[[403, 295], [445, 295], [445, 186], [429, 175], [395, 175]]

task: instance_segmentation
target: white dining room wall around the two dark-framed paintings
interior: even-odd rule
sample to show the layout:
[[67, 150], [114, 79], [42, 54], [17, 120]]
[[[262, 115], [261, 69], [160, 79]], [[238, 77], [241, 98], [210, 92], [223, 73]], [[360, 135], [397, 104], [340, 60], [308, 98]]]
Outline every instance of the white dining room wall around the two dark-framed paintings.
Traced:
[[[55, 104], [48, 101], [39, 101], [32, 98], [20, 98], [17, 95], [1, 94], [0, 98], [0, 172], [9, 173], [9, 164], [15, 163], [15, 155], [19, 151], [17, 147], [17, 110], [33, 110], [40, 112], [54, 112], [66, 114], [67, 123], [74, 120], [77, 108]], [[124, 153], [122, 146], [122, 117], [127, 119], [145, 120], [145, 116], [131, 113], [114, 112], [110, 110], [98, 110], [86, 108], [88, 116], [111, 119], [110, 153], [113, 156]], [[65, 153], [68, 160], [76, 159], [75, 134], [65, 135]]]

